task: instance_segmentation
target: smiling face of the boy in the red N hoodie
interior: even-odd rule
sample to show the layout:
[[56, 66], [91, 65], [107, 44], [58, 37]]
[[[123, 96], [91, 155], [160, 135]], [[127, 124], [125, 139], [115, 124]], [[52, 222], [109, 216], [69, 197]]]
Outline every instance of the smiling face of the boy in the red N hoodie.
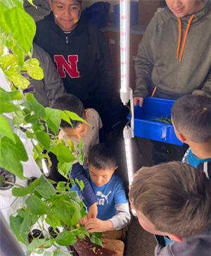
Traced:
[[54, 21], [63, 31], [74, 30], [82, 11], [82, 4], [76, 0], [49, 0]]

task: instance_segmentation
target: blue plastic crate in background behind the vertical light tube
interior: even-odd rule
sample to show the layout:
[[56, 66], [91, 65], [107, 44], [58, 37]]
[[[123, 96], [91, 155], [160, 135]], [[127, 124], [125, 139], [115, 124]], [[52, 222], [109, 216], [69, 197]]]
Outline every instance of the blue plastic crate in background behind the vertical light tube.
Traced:
[[[113, 6], [115, 16], [115, 26], [120, 26], [120, 4]], [[139, 17], [139, 2], [130, 3], [130, 25], [134, 26], [138, 24]]]

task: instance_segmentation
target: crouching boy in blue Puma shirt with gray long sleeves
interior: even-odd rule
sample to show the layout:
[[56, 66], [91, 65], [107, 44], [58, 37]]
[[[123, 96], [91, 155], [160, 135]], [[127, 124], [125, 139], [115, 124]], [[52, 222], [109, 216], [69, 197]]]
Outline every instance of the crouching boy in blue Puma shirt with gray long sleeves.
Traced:
[[[110, 239], [124, 239], [130, 221], [129, 203], [124, 191], [124, 185], [114, 174], [117, 169], [117, 158], [111, 147], [98, 144], [89, 151], [89, 171], [87, 178], [98, 202], [96, 218], [81, 219], [89, 233], [102, 232], [104, 237]], [[77, 190], [75, 186], [72, 190]], [[84, 197], [84, 193], [79, 193]], [[86, 200], [85, 205], [89, 209]]]

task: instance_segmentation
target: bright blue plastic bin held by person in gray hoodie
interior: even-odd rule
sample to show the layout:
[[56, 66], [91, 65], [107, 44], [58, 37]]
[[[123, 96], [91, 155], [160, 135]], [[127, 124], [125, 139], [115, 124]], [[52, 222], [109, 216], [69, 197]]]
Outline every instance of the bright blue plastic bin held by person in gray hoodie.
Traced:
[[[134, 135], [182, 146], [183, 143], [177, 139], [172, 125], [148, 121], [161, 116], [171, 118], [171, 109], [174, 102], [172, 99], [146, 97], [143, 100], [142, 107], [137, 104], [134, 107]], [[128, 115], [127, 118], [129, 119], [130, 116]]]

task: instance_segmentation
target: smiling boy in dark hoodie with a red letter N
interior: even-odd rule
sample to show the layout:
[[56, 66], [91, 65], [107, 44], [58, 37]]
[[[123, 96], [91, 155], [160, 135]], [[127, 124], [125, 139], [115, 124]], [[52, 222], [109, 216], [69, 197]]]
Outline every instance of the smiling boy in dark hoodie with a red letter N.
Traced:
[[51, 56], [65, 90], [103, 118], [114, 90], [113, 66], [103, 32], [81, 16], [82, 0], [49, 0], [34, 42]]

